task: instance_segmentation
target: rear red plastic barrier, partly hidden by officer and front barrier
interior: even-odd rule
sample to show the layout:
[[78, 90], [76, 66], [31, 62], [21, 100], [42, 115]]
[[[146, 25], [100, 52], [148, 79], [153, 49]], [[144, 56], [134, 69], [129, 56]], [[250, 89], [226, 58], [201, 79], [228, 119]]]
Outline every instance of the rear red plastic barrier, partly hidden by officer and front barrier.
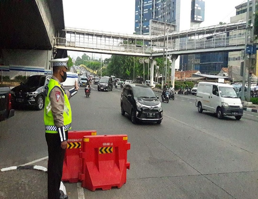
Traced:
[[79, 157], [82, 149], [82, 139], [85, 135], [97, 135], [97, 131], [68, 131], [67, 149], [63, 164], [63, 181], [78, 182], [82, 171], [82, 159]]

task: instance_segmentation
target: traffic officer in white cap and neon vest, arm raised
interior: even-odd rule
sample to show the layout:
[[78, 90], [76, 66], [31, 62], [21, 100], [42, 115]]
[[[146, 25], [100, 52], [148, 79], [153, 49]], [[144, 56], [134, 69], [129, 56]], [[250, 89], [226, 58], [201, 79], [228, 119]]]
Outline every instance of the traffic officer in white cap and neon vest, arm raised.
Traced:
[[67, 58], [50, 60], [53, 76], [47, 85], [44, 107], [44, 123], [48, 147], [47, 192], [48, 199], [68, 198], [59, 190], [62, 179], [68, 129], [71, 129], [72, 112], [69, 99], [77, 93], [78, 84], [65, 91], [60, 82], [67, 78]]

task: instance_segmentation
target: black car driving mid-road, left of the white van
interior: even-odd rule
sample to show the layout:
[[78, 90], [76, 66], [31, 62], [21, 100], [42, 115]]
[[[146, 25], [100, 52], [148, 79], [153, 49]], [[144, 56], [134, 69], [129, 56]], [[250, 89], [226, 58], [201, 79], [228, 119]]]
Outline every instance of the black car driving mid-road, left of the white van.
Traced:
[[132, 123], [143, 121], [160, 124], [163, 119], [161, 102], [153, 90], [143, 84], [126, 84], [121, 93], [120, 106], [121, 114], [128, 113]]

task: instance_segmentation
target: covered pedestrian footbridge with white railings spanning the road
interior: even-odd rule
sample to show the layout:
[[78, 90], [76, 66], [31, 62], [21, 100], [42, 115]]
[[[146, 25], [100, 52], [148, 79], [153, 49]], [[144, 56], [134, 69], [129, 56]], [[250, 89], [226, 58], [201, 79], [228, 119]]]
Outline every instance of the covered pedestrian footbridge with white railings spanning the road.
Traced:
[[[245, 43], [245, 21], [161, 35], [121, 34], [65, 27], [55, 37], [57, 49], [132, 56], [162, 56], [201, 52], [240, 51]], [[59, 35], [58, 34], [58, 35]], [[164, 45], [165, 37], [165, 45]]]

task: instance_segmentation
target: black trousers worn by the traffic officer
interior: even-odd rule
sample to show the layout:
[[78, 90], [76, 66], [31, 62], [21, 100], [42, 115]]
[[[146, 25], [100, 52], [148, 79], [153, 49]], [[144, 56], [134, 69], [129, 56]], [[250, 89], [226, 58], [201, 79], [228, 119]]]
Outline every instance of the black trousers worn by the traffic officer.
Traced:
[[[68, 139], [68, 131], [65, 131]], [[57, 199], [60, 197], [60, 184], [63, 174], [63, 163], [65, 149], [61, 148], [61, 140], [57, 133], [45, 134], [48, 149], [47, 165], [47, 197], [48, 199]]]

